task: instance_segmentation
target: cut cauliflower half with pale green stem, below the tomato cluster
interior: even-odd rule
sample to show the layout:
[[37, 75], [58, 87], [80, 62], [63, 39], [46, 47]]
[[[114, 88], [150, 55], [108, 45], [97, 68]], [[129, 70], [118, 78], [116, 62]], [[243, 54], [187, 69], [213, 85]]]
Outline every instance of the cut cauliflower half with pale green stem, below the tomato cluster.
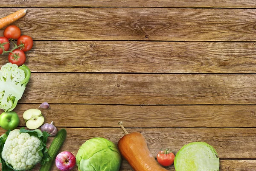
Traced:
[[12, 111], [29, 82], [30, 70], [25, 65], [7, 63], [0, 70], [0, 109]]

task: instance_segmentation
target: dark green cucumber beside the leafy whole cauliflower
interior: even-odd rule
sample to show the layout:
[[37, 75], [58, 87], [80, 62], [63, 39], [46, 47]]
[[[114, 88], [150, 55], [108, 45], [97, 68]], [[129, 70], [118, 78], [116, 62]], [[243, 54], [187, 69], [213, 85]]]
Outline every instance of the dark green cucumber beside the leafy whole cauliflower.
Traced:
[[67, 136], [67, 131], [66, 129], [61, 129], [57, 132], [57, 135], [54, 137], [49, 150], [48, 150], [48, 154], [51, 157], [50, 160], [46, 163], [44, 163], [44, 165], [41, 165], [40, 170], [39, 171], [50, 171], [51, 167], [52, 167], [52, 163], [55, 160], [59, 149], [61, 148], [64, 140], [66, 139]]

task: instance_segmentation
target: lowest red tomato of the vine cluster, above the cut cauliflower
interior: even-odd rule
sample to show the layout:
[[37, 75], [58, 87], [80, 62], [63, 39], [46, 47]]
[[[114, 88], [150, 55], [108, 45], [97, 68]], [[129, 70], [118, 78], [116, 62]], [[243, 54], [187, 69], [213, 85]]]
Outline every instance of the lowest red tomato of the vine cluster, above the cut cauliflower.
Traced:
[[17, 64], [18, 66], [23, 65], [26, 61], [26, 55], [23, 50], [15, 49], [12, 52], [13, 53], [9, 53], [9, 62]]

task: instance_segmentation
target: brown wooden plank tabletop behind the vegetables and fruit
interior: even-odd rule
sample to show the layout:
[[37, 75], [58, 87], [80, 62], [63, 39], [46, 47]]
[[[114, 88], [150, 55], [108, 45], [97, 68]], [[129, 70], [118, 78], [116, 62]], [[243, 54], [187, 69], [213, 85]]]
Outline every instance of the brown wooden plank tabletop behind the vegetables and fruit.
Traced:
[[[14, 24], [35, 40], [20, 126], [47, 101], [45, 123], [67, 129], [60, 151], [117, 143], [123, 121], [154, 156], [204, 141], [221, 171], [256, 170], [255, 0], [1, 0], [0, 17], [20, 8]], [[120, 171], [132, 168], [124, 160]]]

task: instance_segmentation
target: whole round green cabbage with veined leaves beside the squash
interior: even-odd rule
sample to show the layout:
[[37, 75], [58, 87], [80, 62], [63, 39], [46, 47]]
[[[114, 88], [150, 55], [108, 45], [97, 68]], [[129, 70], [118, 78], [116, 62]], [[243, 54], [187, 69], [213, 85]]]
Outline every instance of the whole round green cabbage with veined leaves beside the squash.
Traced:
[[87, 140], [76, 155], [79, 171], [119, 171], [121, 162], [116, 145], [101, 137]]

